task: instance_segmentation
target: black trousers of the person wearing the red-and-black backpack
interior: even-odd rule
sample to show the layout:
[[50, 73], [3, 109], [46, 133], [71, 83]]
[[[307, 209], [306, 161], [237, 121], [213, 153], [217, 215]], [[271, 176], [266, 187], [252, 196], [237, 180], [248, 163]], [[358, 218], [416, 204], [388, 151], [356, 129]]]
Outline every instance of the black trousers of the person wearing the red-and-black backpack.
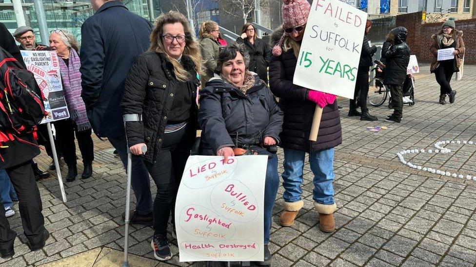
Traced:
[[[43, 236], [44, 217], [41, 214], [40, 191], [31, 168], [30, 160], [6, 169], [19, 199], [21, 224], [30, 244], [37, 245]], [[1, 201], [0, 201], [1, 202]], [[3, 204], [0, 205], [0, 249], [10, 249], [17, 233], [12, 231], [5, 217]]]

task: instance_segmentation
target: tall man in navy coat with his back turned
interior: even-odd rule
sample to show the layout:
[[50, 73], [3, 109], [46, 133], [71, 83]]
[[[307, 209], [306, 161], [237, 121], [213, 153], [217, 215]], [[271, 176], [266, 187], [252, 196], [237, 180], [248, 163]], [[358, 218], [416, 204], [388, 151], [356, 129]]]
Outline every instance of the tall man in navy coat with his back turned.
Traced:
[[[121, 1], [91, 0], [91, 4], [96, 13], [81, 26], [81, 96], [95, 134], [107, 137], [126, 167], [127, 142], [119, 104], [134, 58], [149, 48], [152, 25]], [[140, 157], [132, 158], [132, 189], [136, 209], [130, 223], [151, 226], [150, 180]]]

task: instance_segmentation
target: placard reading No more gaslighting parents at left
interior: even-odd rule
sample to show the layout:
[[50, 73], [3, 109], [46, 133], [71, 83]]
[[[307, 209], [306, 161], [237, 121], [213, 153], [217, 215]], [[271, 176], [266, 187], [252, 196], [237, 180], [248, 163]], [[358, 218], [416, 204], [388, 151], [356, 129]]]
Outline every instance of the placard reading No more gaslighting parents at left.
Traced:
[[41, 124], [69, 118], [69, 110], [64, 99], [59, 58], [54, 51], [21, 51], [28, 71], [33, 72], [44, 97], [48, 115]]

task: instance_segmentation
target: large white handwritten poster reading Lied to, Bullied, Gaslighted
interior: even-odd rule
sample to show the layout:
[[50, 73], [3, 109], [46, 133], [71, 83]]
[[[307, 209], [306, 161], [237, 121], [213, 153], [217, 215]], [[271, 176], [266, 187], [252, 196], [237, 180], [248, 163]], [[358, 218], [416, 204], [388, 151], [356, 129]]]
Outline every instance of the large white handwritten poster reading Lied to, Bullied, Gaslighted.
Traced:
[[267, 156], [190, 156], [175, 206], [180, 262], [263, 261]]

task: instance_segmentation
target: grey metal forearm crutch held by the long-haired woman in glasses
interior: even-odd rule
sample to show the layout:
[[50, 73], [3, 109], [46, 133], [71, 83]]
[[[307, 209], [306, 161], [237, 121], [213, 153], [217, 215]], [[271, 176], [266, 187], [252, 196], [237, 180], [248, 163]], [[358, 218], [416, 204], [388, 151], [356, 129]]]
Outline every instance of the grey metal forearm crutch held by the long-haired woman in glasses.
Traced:
[[[124, 129], [126, 127], [126, 122], [140, 122], [142, 118], [138, 114], [125, 114], [123, 116], [124, 120]], [[122, 267], [129, 267], [129, 261], [127, 260], [128, 250], [129, 250], [129, 215], [130, 215], [130, 207], [131, 207], [131, 178], [132, 178], [132, 153], [131, 149], [129, 148], [129, 142], [127, 142], [127, 186], [126, 186], [126, 214], [124, 218], [124, 262], [122, 263]], [[142, 146], [142, 154], [147, 152], [147, 146]]]

